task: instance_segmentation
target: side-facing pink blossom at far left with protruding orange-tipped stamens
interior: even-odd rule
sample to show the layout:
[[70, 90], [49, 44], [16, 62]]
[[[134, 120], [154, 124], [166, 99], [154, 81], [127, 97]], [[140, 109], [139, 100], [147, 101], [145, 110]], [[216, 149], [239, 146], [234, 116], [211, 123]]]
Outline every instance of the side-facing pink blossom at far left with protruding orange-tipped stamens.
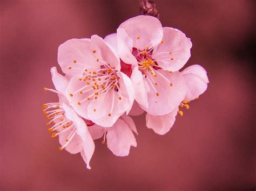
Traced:
[[59, 102], [43, 104], [43, 112], [50, 120], [47, 124], [52, 125], [49, 128], [49, 132], [53, 132], [51, 137], [59, 136], [61, 145], [59, 150], [65, 148], [71, 154], [80, 152], [87, 168], [91, 169], [89, 162], [95, 150], [95, 144], [86, 123], [70, 107], [65, 96], [69, 81], [57, 72], [56, 67], [51, 68], [51, 75], [56, 90], [48, 88], [44, 88], [44, 90], [57, 93], [59, 97]]

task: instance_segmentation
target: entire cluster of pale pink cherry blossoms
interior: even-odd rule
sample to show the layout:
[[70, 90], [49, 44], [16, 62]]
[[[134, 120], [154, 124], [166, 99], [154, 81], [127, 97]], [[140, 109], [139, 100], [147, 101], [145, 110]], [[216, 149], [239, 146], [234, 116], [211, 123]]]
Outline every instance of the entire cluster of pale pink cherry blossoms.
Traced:
[[95, 139], [117, 156], [137, 146], [136, 125], [130, 116], [146, 112], [146, 126], [167, 133], [182, 108], [207, 89], [206, 70], [187, 67], [192, 43], [185, 34], [163, 27], [151, 16], [122, 23], [104, 39], [70, 39], [58, 48], [64, 76], [51, 68], [59, 101], [43, 104], [51, 137], [59, 137], [59, 150], [80, 153], [87, 168]]

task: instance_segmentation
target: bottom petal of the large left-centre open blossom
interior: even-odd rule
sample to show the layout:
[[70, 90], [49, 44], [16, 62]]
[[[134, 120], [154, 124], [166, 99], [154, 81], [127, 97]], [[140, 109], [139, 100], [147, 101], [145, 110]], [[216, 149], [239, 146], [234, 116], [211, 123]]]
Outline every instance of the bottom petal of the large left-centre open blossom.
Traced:
[[120, 94], [119, 91], [110, 90], [104, 95], [99, 95], [97, 100], [93, 100], [89, 104], [87, 112], [91, 121], [105, 128], [109, 128], [128, 109], [128, 98]]

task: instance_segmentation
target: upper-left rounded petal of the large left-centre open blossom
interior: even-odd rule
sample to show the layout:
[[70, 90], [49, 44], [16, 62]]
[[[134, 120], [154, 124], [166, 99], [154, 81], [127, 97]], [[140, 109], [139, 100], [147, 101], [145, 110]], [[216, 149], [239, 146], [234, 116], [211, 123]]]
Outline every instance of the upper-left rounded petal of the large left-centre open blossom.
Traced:
[[70, 39], [58, 48], [58, 63], [68, 75], [82, 74], [84, 69], [100, 68], [97, 59], [102, 59], [100, 49], [87, 39]]

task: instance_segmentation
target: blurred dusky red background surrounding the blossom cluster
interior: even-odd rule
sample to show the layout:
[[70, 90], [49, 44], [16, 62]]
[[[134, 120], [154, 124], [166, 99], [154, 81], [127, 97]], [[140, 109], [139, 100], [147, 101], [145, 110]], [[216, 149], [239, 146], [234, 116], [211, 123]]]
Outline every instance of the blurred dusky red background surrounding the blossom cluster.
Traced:
[[0, 189], [170, 190], [255, 188], [255, 1], [157, 0], [163, 26], [183, 31], [210, 84], [159, 136], [134, 117], [138, 146], [116, 157], [96, 141], [91, 170], [60, 152], [42, 104], [55, 102], [50, 68], [71, 38], [105, 37], [139, 15], [139, 0], [2, 0]]

